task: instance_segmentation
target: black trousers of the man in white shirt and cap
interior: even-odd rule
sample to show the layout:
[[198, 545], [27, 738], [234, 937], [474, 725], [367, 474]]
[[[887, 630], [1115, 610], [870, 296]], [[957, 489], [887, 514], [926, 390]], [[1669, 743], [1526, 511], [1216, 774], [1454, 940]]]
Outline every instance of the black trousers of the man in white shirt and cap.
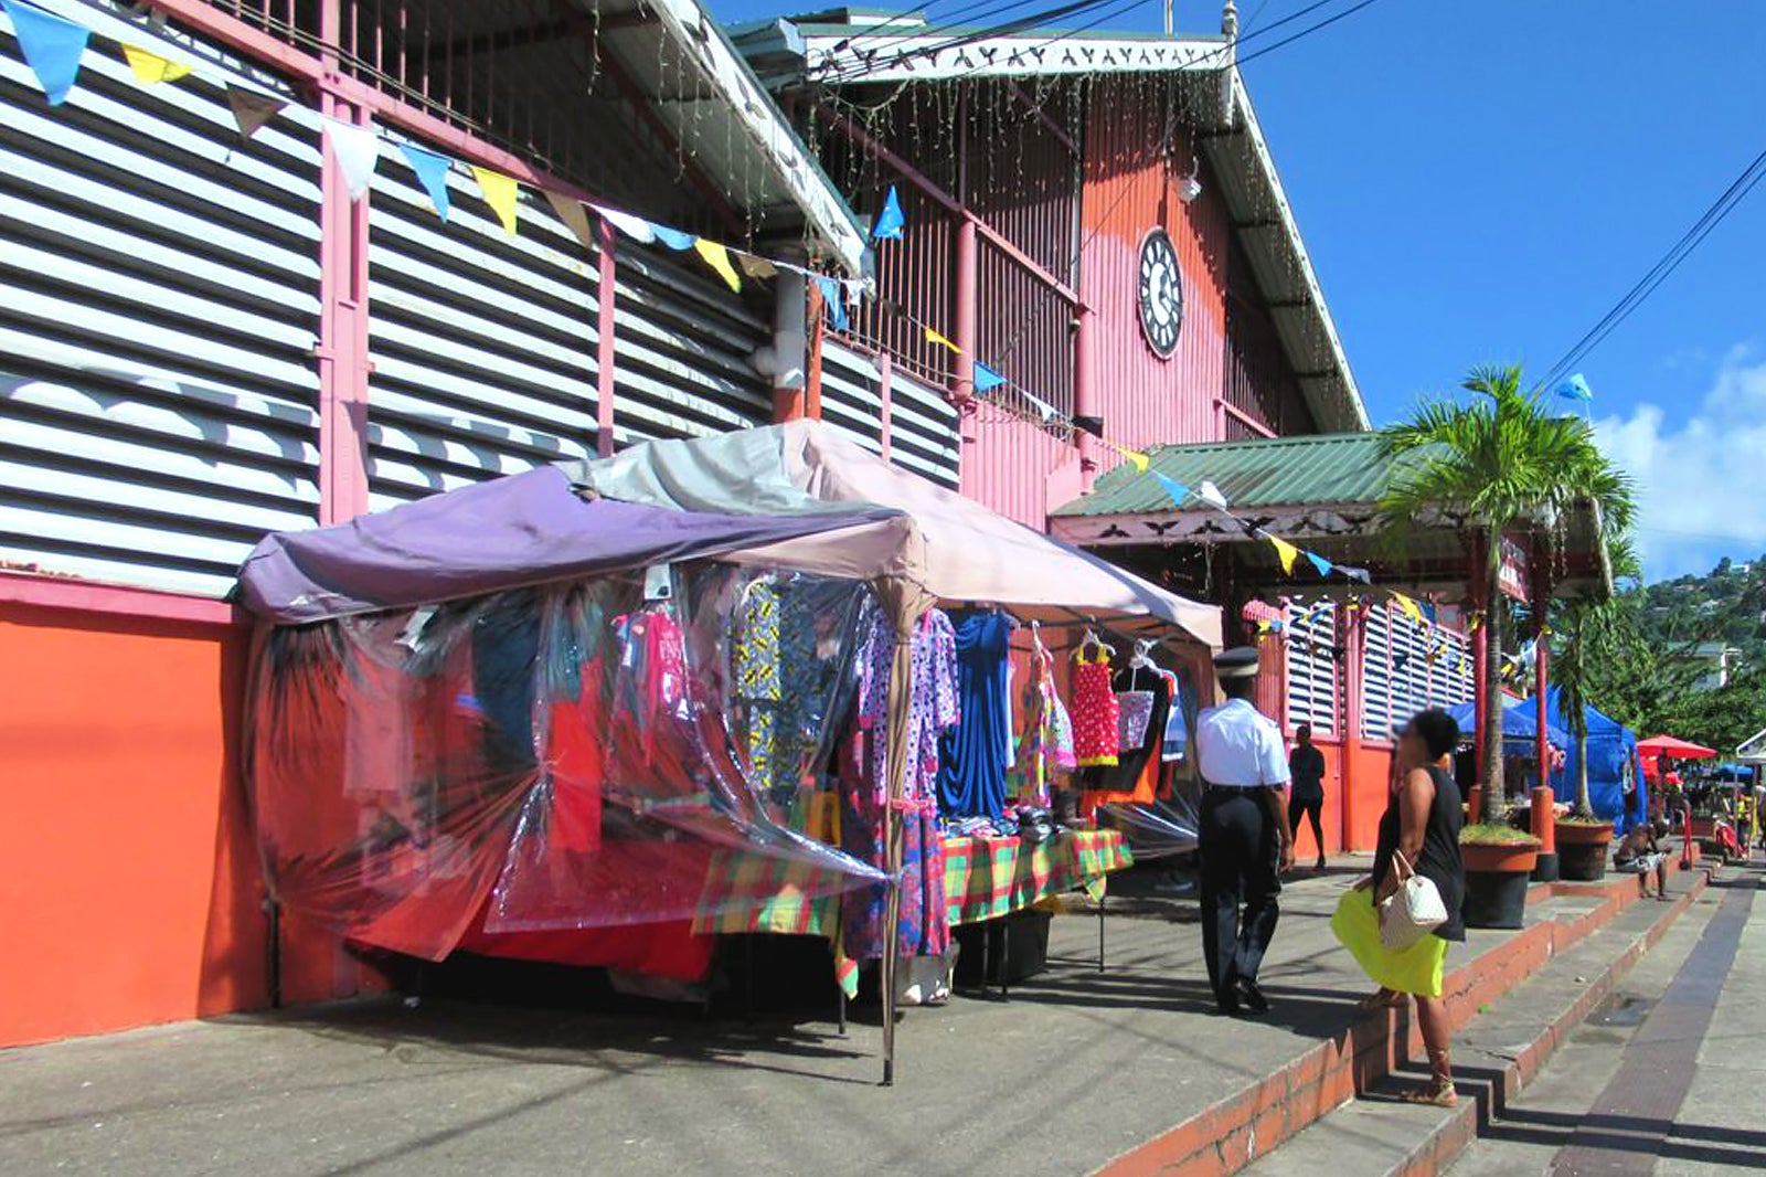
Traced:
[[1257, 979], [1275, 935], [1282, 848], [1270, 816], [1263, 790], [1203, 794], [1203, 954], [1219, 1000], [1233, 1000], [1240, 981]]

